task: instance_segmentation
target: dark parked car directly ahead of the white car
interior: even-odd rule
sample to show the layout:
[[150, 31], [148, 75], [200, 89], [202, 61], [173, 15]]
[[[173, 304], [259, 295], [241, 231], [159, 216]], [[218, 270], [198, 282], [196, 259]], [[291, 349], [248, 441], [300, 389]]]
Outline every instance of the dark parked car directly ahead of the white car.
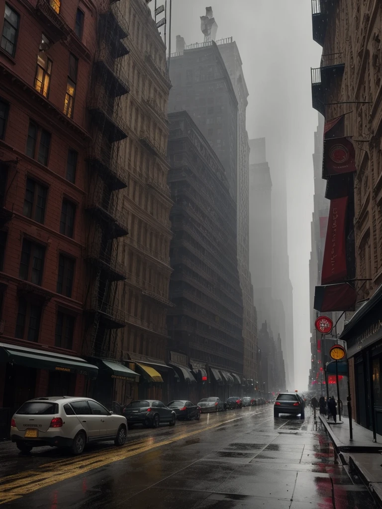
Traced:
[[161, 422], [174, 426], [176, 421], [174, 410], [157, 400], [132, 401], [123, 409], [123, 415], [129, 428], [134, 424], [143, 424], [145, 428], [157, 428]]

